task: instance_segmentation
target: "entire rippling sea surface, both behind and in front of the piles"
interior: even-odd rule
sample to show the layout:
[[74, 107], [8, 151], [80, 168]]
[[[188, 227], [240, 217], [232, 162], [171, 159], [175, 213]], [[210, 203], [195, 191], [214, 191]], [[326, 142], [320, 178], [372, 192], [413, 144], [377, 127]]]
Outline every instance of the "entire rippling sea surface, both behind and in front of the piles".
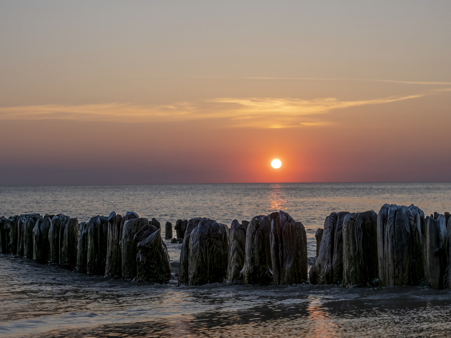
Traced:
[[[284, 210], [314, 234], [333, 211], [414, 203], [451, 211], [451, 183], [284, 183], [0, 187], [0, 215], [95, 215], [135, 211], [162, 225], [179, 218], [233, 219]], [[181, 244], [166, 240], [173, 272]], [[0, 255], [1, 337], [443, 337], [451, 290], [337, 286], [178, 287], [125, 283]]]

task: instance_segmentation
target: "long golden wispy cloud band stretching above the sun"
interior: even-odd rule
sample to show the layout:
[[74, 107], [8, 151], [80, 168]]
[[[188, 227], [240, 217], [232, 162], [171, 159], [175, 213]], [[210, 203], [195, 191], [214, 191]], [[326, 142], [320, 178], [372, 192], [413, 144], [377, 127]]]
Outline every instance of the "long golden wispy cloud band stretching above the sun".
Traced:
[[341, 101], [336, 98], [216, 98], [197, 105], [188, 102], [150, 106], [133, 104], [37, 105], [0, 108], [0, 119], [72, 119], [112, 122], [177, 122], [226, 119], [231, 127], [289, 128], [331, 124], [320, 114], [349, 107], [408, 100], [423, 95], [390, 96], [373, 100]]

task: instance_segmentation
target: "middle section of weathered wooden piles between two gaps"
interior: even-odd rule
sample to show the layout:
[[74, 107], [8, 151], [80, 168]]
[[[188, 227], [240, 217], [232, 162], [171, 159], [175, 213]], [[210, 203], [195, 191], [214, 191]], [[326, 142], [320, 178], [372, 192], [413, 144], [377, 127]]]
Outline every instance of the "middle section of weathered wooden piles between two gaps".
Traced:
[[212, 219], [187, 220], [179, 285], [222, 283], [225, 279], [234, 284], [307, 282], [304, 225], [284, 211], [241, 224], [234, 219], [230, 229]]

